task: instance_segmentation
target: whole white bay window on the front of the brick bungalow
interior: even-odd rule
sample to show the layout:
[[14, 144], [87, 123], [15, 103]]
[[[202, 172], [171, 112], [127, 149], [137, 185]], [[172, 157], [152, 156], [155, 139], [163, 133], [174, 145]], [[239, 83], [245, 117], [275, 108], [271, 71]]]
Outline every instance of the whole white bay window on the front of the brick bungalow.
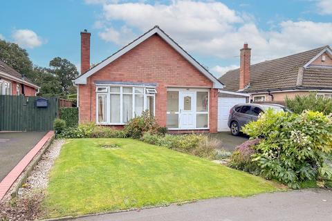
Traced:
[[97, 124], [122, 125], [145, 110], [154, 115], [155, 88], [97, 86], [96, 93]]

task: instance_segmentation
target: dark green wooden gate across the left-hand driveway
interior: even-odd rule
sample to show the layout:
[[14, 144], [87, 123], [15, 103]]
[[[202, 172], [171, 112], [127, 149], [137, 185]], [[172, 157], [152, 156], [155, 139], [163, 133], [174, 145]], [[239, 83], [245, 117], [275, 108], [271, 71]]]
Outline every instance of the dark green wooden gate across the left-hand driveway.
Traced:
[[47, 107], [37, 107], [39, 97], [0, 95], [0, 131], [50, 131], [59, 116], [59, 99], [46, 97]]

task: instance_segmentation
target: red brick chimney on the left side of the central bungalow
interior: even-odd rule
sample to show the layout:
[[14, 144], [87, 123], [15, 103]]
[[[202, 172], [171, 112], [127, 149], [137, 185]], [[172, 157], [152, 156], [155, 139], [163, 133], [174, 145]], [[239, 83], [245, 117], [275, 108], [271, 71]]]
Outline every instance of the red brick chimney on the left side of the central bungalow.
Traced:
[[90, 36], [86, 29], [81, 32], [81, 75], [90, 69]]

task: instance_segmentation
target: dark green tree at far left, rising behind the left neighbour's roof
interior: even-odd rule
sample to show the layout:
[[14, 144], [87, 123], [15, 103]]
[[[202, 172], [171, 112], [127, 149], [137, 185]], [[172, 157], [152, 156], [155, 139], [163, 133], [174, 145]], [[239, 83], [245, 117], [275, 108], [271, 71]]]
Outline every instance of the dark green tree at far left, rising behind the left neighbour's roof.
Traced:
[[15, 43], [0, 40], [0, 59], [21, 75], [28, 78], [33, 75], [33, 62], [30, 61], [28, 52]]

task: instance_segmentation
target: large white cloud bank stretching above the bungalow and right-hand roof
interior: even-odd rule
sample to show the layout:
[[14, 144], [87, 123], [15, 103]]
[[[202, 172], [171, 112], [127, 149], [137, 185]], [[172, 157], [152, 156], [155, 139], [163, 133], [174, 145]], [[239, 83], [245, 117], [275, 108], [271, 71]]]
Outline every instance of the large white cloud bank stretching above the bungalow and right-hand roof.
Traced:
[[[172, 1], [163, 3], [102, 3], [100, 37], [127, 44], [133, 33], [142, 34], [160, 26], [185, 50], [220, 59], [239, 59], [243, 42], [252, 48], [252, 64], [295, 52], [331, 44], [332, 23], [282, 21], [270, 30], [257, 26], [252, 15], [240, 13], [214, 1]], [[114, 28], [107, 23], [120, 21]], [[113, 27], [113, 28], [112, 28]], [[125, 27], [125, 28], [123, 28]]]

